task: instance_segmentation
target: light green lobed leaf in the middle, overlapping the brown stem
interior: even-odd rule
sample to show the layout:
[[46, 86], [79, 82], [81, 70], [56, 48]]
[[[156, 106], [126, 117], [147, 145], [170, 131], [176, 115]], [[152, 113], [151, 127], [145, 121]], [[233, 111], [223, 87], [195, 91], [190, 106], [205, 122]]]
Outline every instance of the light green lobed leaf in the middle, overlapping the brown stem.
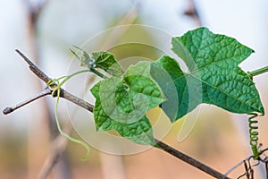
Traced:
[[159, 106], [163, 92], [150, 76], [150, 63], [131, 65], [122, 78], [99, 81], [92, 89], [96, 98], [94, 119], [99, 130], [114, 129], [139, 144], [155, 145], [147, 111]]

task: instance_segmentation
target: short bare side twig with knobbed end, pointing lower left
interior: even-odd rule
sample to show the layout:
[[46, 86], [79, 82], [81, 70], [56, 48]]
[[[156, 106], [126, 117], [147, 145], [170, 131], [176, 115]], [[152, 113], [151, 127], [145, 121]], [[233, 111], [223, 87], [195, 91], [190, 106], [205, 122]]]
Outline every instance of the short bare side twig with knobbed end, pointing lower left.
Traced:
[[29, 98], [25, 101], [22, 101], [21, 103], [17, 104], [15, 107], [6, 107], [4, 108], [3, 110], [3, 113], [4, 115], [8, 115], [10, 113], [12, 113], [14, 110], [20, 108], [20, 107], [23, 107], [31, 102], [33, 102], [34, 100], [37, 100], [38, 98], [42, 98], [42, 97], [45, 97], [46, 95], [50, 95], [51, 94], [51, 90], [49, 90], [49, 88], [46, 88], [44, 91], [42, 91], [40, 94], [32, 97], [32, 98]]

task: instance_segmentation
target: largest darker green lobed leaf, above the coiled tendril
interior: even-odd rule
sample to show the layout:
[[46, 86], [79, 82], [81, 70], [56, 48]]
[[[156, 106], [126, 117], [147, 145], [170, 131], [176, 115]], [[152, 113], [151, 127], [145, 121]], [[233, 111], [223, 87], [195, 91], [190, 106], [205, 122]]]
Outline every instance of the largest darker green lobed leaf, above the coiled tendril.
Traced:
[[[255, 83], [239, 64], [254, 51], [236, 39], [214, 34], [206, 28], [188, 31], [180, 38], [172, 38], [172, 50], [187, 64], [188, 73], [179, 64], [163, 56], [152, 64], [151, 74], [168, 97], [163, 111], [174, 122], [201, 103], [213, 104], [230, 112], [264, 114]], [[163, 69], [171, 79], [162, 80], [157, 70]], [[168, 90], [176, 88], [178, 106], [171, 111], [174, 98]], [[164, 103], [163, 106], [164, 107]]]

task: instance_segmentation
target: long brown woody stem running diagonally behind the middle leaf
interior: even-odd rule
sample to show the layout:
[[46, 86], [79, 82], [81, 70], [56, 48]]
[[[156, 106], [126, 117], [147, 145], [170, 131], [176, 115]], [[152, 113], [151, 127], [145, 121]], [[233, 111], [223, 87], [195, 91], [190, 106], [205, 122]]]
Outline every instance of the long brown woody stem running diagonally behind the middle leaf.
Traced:
[[[50, 81], [50, 78], [46, 75], [46, 73], [42, 72], [38, 68], [38, 66], [33, 64], [26, 55], [23, 55], [21, 53], [21, 51], [18, 50], [18, 49], [16, 50], [16, 52], [19, 55], [21, 55], [21, 57], [25, 60], [25, 62], [27, 62], [27, 64], [29, 64], [30, 71], [34, 72], [38, 76], [38, 78], [40, 78], [41, 80], [45, 81], [46, 83], [48, 81]], [[57, 84], [54, 83], [54, 84], [51, 84], [51, 85], [56, 87]], [[85, 101], [85, 100], [83, 100], [81, 98], [78, 98], [78, 97], [76, 97], [74, 95], [71, 95], [71, 93], [67, 92], [66, 90], [63, 90], [62, 88], [60, 88], [58, 91], [59, 92], [56, 92], [56, 94], [54, 94], [53, 97], [58, 96], [60, 98], [65, 98], [65, 99], [71, 101], [72, 103], [74, 103], [74, 104], [76, 104], [76, 105], [78, 105], [80, 107], [83, 107], [83, 108], [87, 109], [90, 112], [93, 112], [94, 106], [89, 104], [87, 101]], [[60, 94], [58, 94], [58, 93], [60, 93]], [[191, 166], [196, 167], [197, 169], [205, 172], [206, 174], [214, 176], [215, 178], [229, 179], [228, 176], [223, 175], [220, 172], [214, 170], [212, 167], [206, 166], [205, 164], [197, 161], [197, 159], [191, 158], [188, 155], [180, 152], [179, 150], [172, 148], [171, 146], [165, 144], [163, 141], [158, 141], [157, 139], [155, 139], [155, 142], [160, 147], [160, 148], [157, 148], [157, 149], [162, 149], [163, 151], [171, 154], [173, 157], [179, 158], [180, 160], [188, 163]]]

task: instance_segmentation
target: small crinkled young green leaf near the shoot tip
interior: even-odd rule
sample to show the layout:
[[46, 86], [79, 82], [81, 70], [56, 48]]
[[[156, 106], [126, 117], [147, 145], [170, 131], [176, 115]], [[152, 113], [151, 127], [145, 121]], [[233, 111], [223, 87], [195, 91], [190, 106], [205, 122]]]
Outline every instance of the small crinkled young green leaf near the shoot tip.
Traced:
[[103, 69], [112, 76], [120, 77], [124, 70], [121, 65], [115, 60], [114, 56], [109, 52], [94, 52], [92, 58], [95, 60], [95, 68]]

